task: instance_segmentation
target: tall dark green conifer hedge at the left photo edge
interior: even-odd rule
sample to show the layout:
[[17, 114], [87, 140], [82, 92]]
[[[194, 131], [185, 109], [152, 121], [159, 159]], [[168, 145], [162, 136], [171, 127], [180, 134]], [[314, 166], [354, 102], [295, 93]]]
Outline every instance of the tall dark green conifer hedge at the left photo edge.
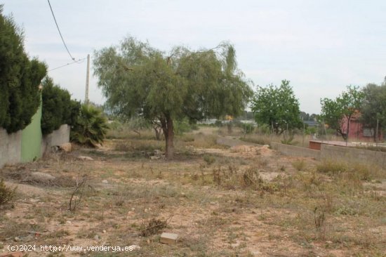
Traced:
[[0, 126], [13, 133], [24, 129], [39, 107], [46, 65], [29, 60], [22, 31], [2, 11], [0, 5]]

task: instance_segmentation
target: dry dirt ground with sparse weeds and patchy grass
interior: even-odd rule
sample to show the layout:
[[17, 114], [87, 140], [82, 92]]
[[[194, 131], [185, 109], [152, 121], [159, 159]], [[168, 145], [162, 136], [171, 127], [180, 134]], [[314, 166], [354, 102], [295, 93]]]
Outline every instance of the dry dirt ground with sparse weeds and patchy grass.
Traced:
[[[172, 161], [154, 157], [155, 140], [127, 139], [6, 166], [0, 176], [18, 195], [0, 209], [0, 254], [35, 245], [28, 256], [386, 256], [384, 171], [321, 172], [314, 159], [194, 145], [197, 136], [178, 139]], [[161, 232], [178, 241], [161, 244]]]

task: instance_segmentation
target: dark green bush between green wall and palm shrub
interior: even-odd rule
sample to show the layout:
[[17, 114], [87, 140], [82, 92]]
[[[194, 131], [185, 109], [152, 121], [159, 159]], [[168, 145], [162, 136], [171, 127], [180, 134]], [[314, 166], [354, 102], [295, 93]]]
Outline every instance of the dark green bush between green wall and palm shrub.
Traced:
[[50, 77], [46, 77], [42, 85], [42, 133], [51, 133], [59, 129], [62, 124], [73, 126], [79, 117], [81, 104], [75, 100], [71, 100], [69, 92], [54, 85], [53, 79]]

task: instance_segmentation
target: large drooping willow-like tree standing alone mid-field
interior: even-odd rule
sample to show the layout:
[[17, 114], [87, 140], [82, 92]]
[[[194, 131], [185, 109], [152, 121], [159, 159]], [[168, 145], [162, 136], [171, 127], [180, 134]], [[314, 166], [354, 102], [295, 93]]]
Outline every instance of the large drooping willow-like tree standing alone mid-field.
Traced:
[[128, 37], [94, 55], [107, 107], [124, 117], [159, 120], [168, 158], [173, 157], [173, 121], [238, 115], [252, 95], [230, 44], [200, 51], [178, 46], [165, 53]]

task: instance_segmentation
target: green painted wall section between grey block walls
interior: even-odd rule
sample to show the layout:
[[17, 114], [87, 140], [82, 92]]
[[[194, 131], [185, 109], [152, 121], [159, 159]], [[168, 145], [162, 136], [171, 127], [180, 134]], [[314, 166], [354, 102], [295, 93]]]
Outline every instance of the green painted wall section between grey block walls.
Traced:
[[31, 162], [41, 157], [41, 101], [31, 124], [22, 130], [22, 162]]

